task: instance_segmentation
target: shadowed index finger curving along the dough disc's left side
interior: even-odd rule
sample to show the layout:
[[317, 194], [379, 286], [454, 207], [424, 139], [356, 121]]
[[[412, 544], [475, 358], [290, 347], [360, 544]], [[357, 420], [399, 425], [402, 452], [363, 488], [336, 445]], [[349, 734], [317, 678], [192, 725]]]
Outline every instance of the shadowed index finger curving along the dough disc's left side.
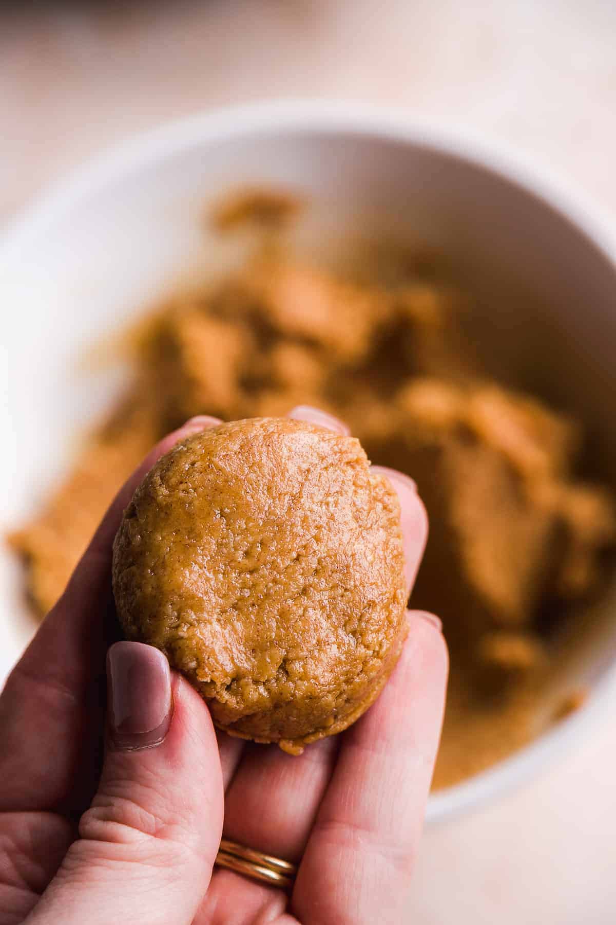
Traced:
[[[11, 672], [0, 697], [0, 810], [83, 808], [97, 763], [104, 709], [104, 653], [113, 641], [111, 555], [135, 488], [175, 443], [216, 418], [165, 437], [120, 490], [71, 578]], [[91, 772], [86, 761], [91, 760]], [[79, 765], [79, 775], [76, 768]]]

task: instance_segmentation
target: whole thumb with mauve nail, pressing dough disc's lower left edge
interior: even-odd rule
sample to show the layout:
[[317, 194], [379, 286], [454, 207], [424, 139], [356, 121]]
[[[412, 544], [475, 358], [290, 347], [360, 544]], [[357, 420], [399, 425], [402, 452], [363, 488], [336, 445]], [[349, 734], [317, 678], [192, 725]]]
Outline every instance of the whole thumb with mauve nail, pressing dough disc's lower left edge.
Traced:
[[223, 827], [210, 713], [151, 646], [115, 643], [107, 674], [98, 793], [29, 922], [189, 925]]

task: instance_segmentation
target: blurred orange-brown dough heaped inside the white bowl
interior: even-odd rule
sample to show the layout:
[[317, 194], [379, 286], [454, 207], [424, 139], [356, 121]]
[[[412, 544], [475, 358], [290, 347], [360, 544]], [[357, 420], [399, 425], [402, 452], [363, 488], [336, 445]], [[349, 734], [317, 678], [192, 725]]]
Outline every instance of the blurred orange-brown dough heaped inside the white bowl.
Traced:
[[613, 507], [574, 475], [576, 423], [482, 374], [459, 324], [467, 300], [438, 260], [376, 248], [334, 275], [276, 244], [295, 213], [288, 197], [261, 191], [223, 203], [222, 234], [260, 232], [253, 255], [139, 331], [125, 399], [11, 542], [43, 613], [116, 488], [188, 417], [280, 415], [297, 404], [339, 415], [372, 462], [412, 475], [428, 508], [411, 604], [439, 613], [451, 650], [435, 777], [448, 785], [534, 734], [558, 623], [546, 615], [598, 585]]

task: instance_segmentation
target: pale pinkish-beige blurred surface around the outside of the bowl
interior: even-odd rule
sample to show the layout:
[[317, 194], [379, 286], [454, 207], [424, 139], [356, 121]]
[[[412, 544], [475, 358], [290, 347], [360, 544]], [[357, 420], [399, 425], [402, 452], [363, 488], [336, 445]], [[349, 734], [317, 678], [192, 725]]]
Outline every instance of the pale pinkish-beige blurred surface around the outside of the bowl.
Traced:
[[[616, 226], [612, 0], [15, 7], [0, 7], [0, 233], [50, 180], [115, 140], [290, 95], [355, 97], [480, 130], [568, 175]], [[430, 829], [408, 921], [616, 921], [615, 767], [606, 716], [533, 783]]]

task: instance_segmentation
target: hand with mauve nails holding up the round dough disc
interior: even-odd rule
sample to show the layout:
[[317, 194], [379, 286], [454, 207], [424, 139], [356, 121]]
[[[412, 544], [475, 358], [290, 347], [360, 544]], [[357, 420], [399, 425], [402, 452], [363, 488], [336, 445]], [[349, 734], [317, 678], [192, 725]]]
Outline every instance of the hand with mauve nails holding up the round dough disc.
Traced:
[[[315, 415], [344, 428], [309, 409], [292, 413]], [[156, 459], [215, 423], [195, 418], [151, 451], [6, 682], [0, 925], [402, 920], [441, 730], [447, 654], [436, 618], [408, 614], [405, 649], [377, 702], [299, 758], [217, 736], [197, 693], [140, 643], [109, 649], [105, 722], [115, 531]], [[426, 515], [410, 479], [387, 475], [401, 501], [410, 589]], [[296, 861], [293, 894], [212, 873], [222, 832]]]

